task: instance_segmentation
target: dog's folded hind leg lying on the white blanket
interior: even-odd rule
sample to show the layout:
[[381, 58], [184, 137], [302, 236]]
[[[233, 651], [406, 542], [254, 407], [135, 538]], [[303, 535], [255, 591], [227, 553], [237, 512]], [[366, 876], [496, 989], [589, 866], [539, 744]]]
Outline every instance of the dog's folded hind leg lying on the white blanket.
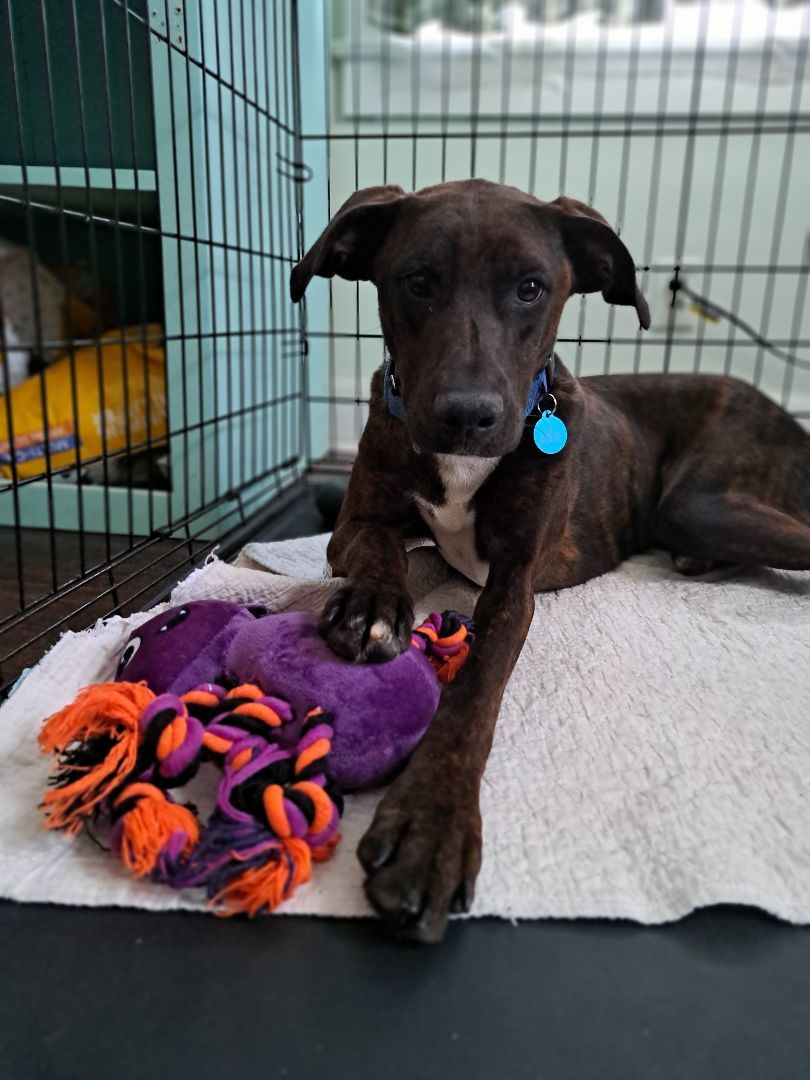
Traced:
[[686, 572], [723, 563], [810, 570], [810, 525], [744, 492], [672, 492], [654, 532]]

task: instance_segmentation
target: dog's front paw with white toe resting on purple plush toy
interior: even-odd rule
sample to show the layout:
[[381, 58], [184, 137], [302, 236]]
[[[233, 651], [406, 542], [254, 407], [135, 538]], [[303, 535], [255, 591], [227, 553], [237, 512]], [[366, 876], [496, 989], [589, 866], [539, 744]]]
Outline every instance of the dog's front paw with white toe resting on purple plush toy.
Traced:
[[324, 608], [318, 629], [339, 657], [380, 663], [410, 645], [414, 610], [399, 593], [346, 585]]

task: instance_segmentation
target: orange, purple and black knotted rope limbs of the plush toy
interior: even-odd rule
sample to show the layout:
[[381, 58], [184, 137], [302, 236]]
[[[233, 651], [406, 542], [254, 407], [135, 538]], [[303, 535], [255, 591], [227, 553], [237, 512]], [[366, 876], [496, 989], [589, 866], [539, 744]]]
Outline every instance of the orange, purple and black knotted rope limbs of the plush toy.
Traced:
[[[446, 612], [429, 616], [411, 644], [449, 681], [472, 638], [469, 620]], [[100, 683], [40, 732], [55, 755], [45, 825], [75, 835], [107, 821], [111, 850], [136, 877], [203, 889], [221, 914], [271, 912], [339, 842], [334, 734], [330, 713], [296, 717], [251, 684], [157, 696], [144, 683]], [[207, 766], [218, 771], [203, 824], [172, 793]]]

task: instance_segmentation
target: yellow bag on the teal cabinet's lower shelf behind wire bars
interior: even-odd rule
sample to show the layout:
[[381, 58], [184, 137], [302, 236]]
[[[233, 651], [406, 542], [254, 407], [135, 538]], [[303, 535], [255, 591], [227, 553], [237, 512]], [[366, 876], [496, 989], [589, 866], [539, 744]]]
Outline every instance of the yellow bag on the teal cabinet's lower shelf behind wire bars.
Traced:
[[[145, 328], [147, 338], [158, 338], [161, 327]], [[45, 474], [45, 434], [42, 416], [42, 387], [48, 402], [48, 446], [51, 468], [76, 464], [76, 447], [82, 461], [99, 457], [102, 440], [102, 394], [99, 366], [104, 379], [104, 428], [108, 454], [126, 447], [134, 453], [146, 448], [147, 434], [152, 443], [166, 434], [165, 353], [157, 341], [143, 343], [144, 328], [132, 326], [105, 334], [100, 346], [77, 349], [71, 361], [64, 355], [44, 372], [14, 387], [8, 395], [14, 429], [14, 460], [17, 476]], [[100, 360], [99, 360], [100, 350]], [[77, 414], [73, 415], [71, 364], [76, 370]], [[149, 432], [147, 433], [147, 382], [149, 392]], [[124, 390], [126, 393], [124, 393]], [[129, 404], [129, 407], [127, 407]], [[78, 422], [77, 422], [78, 421]], [[5, 396], [0, 395], [0, 476], [11, 477], [11, 446]]]

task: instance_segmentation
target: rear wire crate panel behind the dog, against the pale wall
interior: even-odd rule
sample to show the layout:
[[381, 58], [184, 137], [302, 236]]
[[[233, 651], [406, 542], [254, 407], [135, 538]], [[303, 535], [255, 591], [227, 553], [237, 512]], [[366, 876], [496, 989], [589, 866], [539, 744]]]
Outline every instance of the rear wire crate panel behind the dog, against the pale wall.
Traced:
[[[599, 297], [569, 302], [558, 351], [577, 374], [726, 372], [810, 417], [807, 3], [365, 0], [332, 14], [327, 125], [302, 133], [328, 212], [305, 217], [308, 243], [370, 184], [483, 176], [572, 195], [637, 258], [653, 320], [640, 334]], [[316, 92], [302, 85], [305, 112]], [[342, 461], [382, 343], [369, 286], [323, 293], [310, 382]]]

